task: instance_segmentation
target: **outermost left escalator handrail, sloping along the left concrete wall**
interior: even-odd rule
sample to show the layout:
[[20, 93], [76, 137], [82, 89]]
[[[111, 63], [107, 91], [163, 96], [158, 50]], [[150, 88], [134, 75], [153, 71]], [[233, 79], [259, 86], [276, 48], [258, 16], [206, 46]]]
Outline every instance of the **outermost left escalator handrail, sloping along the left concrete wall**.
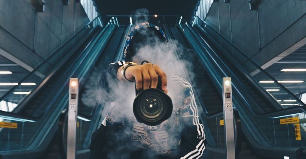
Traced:
[[82, 30], [84, 30], [86, 27], [88, 27], [88, 25], [90, 25], [91, 23], [93, 23], [96, 19], [98, 19], [99, 17], [96, 17], [95, 19], [93, 19], [91, 22], [89, 22], [88, 24], [86, 24], [85, 27], [83, 27], [82, 29], [80, 29], [73, 37], [69, 38], [69, 40], [67, 40], [64, 44], [62, 44], [58, 49], [56, 49], [53, 53], [51, 53], [51, 55], [49, 55], [43, 62], [41, 62], [37, 67], [35, 67], [35, 69], [33, 69], [31, 72], [29, 72], [26, 76], [24, 76], [23, 79], [21, 79], [18, 82], [18, 85], [13, 86], [11, 89], [9, 89], [9, 91], [7, 91], [4, 95], [2, 95], [0, 97], [0, 101], [2, 101], [2, 99], [4, 97], [6, 97], [10, 92], [12, 92], [16, 87], [20, 86], [20, 84], [22, 82], [24, 82], [24, 80], [26, 80], [29, 76], [31, 76], [32, 74], [34, 74], [43, 64], [45, 64], [50, 58], [53, 57], [53, 55], [58, 52], [60, 49], [62, 49], [70, 40], [72, 40], [73, 38], [75, 38], [76, 36], [78, 36]]

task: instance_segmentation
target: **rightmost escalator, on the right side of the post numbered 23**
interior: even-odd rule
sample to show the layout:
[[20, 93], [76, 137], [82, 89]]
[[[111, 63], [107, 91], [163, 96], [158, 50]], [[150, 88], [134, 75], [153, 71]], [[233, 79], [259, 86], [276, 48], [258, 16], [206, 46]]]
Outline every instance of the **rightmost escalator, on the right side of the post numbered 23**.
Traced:
[[[293, 117], [303, 119], [305, 104], [251, 60], [244, 61], [245, 65], [241, 66], [236, 59], [247, 58], [243, 54], [238, 55], [237, 50], [226, 52], [233, 50], [233, 47], [224, 44], [226, 40], [220, 35], [216, 36], [218, 33], [208, 34], [207, 23], [191, 27], [181, 18], [178, 27], [189, 39], [188, 42], [205, 63], [209, 76], [215, 78], [216, 83], [221, 83], [220, 79], [224, 76], [232, 77], [233, 104], [241, 117], [243, 130], [240, 158], [303, 158], [305, 147], [302, 141], [305, 138], [303, 123], [283, 125], [280, 124], [280, 120]], [[221, 40], [215, 40], [213, 37]], [[254, 76], [256, 75], [254, 68], [257, 76], [266, 76], [267, 79], [274, 81], [275, 86], [281, 88], [283, 94], [295, 99], [300, 106], [285, 109], [276, 101], [273, 92], [266, 91], [258, 83]], [[205, 104], [204, 106], [206, 107]], [[294, 131], [297, 125], [301, 126], [301, 140], [296, 138]]]

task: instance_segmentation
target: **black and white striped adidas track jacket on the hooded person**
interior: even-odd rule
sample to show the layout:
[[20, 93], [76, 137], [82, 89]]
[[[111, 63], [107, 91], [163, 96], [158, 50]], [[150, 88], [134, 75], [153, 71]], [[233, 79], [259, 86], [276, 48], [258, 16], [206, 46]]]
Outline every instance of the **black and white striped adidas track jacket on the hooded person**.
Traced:
[[[103, 73], [100, 85], [106, 90], [106, 101], [113, 102], [119, 98], [120, 91], [113, 90], [109, 81], [118, 81], [116, 73], [118, 68], [124, 65], [124, 61], [111, 63]], [[125, 81], [127, 84], [133, 84]], [[181, 87], [181, 95], [172, 97], [173, 114], [171, 117], [157, 126], [148, 126], [134, 120], [132, 124], [131, 142], [136, 147], [153, 150], [161, 154], [169, 154], [180, 159], [198, 159], [205, 150], [205, 134], [203, 125], [199, 121], [199, 113], [191, 84], [185, 79], [172, 75], [168, 83], [173, 82]], [[169, 90], [170, 91], [170, 90]], [[122, 106], [114, 105], [106, 115], [103, 125], [112, 125], [122, 122], [116, 112], [121, 111]], [[171, 142], [171, 143], [170, 143]], [[173, 146], [173, 143], [176, 146]], [[171, 154], [172, 153], [172, 154]], [[174, 154], [175, 153], [175, 154]]]

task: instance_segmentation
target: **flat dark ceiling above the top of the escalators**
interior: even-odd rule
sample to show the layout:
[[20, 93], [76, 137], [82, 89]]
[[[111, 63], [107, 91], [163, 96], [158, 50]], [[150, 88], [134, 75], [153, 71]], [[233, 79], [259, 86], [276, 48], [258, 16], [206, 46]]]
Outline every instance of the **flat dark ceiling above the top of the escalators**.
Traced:
[[183, 16], [190, 21], [199, 0], [189, 0], [188, 2], [184, 0], [94, 0], [94, 2], [104, 22], [109, 20], [106, 15], [134, 15], [135, 10], [140, 8], [146, 8], [150, 15]]

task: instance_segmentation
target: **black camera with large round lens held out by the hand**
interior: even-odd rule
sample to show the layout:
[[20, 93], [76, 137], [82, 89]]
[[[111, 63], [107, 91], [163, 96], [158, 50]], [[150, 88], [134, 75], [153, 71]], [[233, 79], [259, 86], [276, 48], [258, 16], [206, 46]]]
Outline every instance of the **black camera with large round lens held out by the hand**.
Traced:
[[155, 126], [170, 118], [173, 105], [171, 98], [164, 93], [158, 77], [157, 88], [136, 90], [136, 98], [133, 103], [133, 112], [138, 122]]

